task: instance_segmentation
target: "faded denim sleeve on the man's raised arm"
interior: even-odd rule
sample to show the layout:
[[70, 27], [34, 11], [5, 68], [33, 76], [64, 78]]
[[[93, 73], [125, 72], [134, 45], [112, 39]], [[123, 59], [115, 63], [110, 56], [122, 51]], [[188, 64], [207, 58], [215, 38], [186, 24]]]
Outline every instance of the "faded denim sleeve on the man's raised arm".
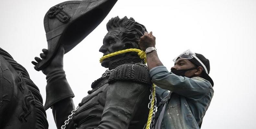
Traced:
[[168, 72], [165, 66], [158, 66], [149, 71], [152, 82], [160, 88], [193, 99], [201, 98], [212, 86], [201, 77], [182, 77]]

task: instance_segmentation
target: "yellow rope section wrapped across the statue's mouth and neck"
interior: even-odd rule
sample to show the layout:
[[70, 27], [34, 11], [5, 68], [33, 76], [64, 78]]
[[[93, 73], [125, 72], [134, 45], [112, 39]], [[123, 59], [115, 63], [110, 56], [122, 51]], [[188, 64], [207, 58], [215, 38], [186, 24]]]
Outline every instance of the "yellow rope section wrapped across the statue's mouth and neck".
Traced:
[[127, 53], [127, 52], [137, 52], [138, 55], [140, 56], [141, 59], [144, 60], [144, 62], [146, 63], [146, 53], [144, 51], [141, 51], [140, 49], [136, 49], [136, 48], [130, 48], [130, 49], [125, 49], [125, 50], [121, 50], [118, 52], [114, 52], [108, 55], [104, 55], [99, 59], [99, 63], [101, 63], [104, 59], [107, 59], [109, 57], [115, 56], [115, 55], [119, 55], [119, 54], [123, 54], [123, 53]]

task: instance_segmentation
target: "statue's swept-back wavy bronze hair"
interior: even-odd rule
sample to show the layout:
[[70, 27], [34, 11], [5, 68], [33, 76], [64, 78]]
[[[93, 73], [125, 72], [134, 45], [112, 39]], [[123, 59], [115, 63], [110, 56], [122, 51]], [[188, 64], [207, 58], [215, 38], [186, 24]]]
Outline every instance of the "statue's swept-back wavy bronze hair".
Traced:
[[138, 43], [140, 37], [147, 32], [144, 25], [135, 22], [131, 17], [128, 19], [126, 16], [120, 19], [118, 16], [111, 18], [107, 23], [107, 30], [111, 31], [113, 29], [119, 29], [121, 33], [121, 41], [124, 44], [129, 44], [128, 48], [140, 49]]

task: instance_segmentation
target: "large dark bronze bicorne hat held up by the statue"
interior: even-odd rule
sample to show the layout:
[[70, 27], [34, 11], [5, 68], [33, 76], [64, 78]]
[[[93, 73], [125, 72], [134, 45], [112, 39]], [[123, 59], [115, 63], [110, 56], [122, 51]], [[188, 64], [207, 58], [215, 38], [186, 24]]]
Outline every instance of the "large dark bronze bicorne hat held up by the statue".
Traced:
[[46, 67], [60, 44], [65, 53], [74, 48], [101, 23], [116, 1], [66, 1], [50, 8], [44, 17], [49, 54], [34, 68], [39, 71]]

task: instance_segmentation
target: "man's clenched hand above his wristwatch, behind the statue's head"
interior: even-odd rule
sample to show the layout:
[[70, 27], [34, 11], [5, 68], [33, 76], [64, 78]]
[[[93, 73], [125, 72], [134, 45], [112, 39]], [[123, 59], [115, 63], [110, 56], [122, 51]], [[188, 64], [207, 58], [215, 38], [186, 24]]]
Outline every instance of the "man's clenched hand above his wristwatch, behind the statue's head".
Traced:
[[140, 37], [139, 45], [143, 51], [148, 47], [156, 46], [156, 37], [152, 35], [152, 31], [149, 34], [145, 32], [144, 35]]

